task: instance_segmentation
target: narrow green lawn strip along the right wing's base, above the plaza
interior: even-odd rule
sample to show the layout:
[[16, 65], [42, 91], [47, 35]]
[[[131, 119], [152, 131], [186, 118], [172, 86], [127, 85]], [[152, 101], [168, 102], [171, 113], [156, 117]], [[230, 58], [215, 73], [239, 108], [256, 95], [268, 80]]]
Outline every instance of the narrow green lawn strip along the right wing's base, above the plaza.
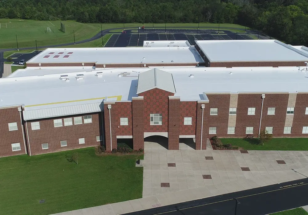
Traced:
[[308, 138], [273, 138], [270, 142], [259, 144], [257, 138], [220, 138], [223, 144], [231, 143], [246, 150], [308, 150]]

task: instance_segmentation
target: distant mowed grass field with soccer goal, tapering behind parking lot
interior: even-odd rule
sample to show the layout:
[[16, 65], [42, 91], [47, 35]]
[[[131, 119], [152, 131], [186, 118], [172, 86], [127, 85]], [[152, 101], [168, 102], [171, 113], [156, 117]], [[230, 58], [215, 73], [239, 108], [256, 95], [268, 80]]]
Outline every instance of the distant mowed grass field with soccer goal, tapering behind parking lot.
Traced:
[[[60, 31], [60, 23], [65, 25], [66, 32]], [[123, 28], [120, 24], [86, 24], [74, 21], [34, 21], [24, 19], [0, 19], [0, 49], [15, 48], [17, 49], [16, 35], [18, 40], [18, 48], [35, 47], [35, 40], [38, 46], [58, 45], [68, 42], [81, 41], [91, 38], [97, 33], [105, 29]], [[127, 23], [125, 29], [133, 29], [141, 27], [141, 23]], [[152, 28], [152, 23], [145, 23], [145, 28]], [[47, 32], [47, 27], [51, 32]], [[154, 24], [154, 28], [164, 28], [165, 24]], [[167, 23], [166, 28], [197, 28], [197, 23]], [[200, 28], [218, 29], [216, 23], [200, 23]], [[239, 28], [242, 30], [233, 30], [244, 32], [245, 27], [235, 24], [220, 24], [220, 29]], [[248, 28], [247, 28], [248, 29]], [[229, 29], [231, 30], [231, 29]], [[116, 30], [121, 31], [121, 30]]]

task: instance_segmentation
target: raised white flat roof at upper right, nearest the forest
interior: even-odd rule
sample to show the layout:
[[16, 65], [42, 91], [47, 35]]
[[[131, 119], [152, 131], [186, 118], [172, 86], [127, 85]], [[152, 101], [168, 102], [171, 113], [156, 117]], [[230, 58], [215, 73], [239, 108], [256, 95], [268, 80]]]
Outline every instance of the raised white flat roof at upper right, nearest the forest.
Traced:
[[197, 44], [211, 62], [308, 60], [308, 54], [277, 40], [199, 40]]

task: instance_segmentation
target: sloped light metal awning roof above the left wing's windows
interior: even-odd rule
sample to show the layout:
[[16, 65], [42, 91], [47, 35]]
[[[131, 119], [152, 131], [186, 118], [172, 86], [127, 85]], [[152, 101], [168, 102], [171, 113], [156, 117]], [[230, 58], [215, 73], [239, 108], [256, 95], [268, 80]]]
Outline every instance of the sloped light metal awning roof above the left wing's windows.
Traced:
[[102, 103], [79, 104], [56, 108], [43, 108], [23, 111], [24, 120], [51, 118], [65, 115], [99, 112], [104, 109]]

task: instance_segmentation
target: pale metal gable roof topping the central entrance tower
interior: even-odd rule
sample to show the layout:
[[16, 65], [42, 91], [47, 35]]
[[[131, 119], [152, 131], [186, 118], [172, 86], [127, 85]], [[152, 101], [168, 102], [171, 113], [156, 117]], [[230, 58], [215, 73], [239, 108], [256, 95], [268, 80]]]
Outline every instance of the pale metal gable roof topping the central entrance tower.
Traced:
[[137, 94], [154, 88], [176, 93], [172, 73], [157, 68], [140, 73], [138, 76]]

